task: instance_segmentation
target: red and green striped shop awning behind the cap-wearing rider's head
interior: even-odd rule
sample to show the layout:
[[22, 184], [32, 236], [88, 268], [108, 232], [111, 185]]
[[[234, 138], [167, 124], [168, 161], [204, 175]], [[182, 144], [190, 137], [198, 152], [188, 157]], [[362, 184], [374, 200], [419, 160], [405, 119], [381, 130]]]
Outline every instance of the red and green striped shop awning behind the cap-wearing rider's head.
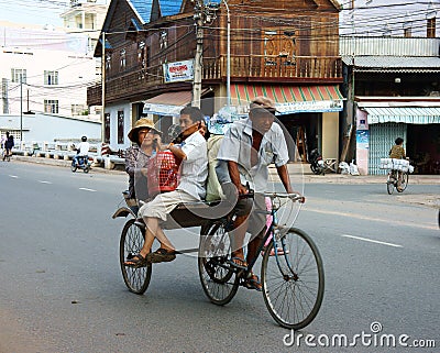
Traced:
[[231, 86], [231, 100], [233, 104], [246, 106], [256, 96], [266, 96], [273, 99], [279, 114], [341, 111], [343, 109], [343, 97], [338, 86], [244, 84]]

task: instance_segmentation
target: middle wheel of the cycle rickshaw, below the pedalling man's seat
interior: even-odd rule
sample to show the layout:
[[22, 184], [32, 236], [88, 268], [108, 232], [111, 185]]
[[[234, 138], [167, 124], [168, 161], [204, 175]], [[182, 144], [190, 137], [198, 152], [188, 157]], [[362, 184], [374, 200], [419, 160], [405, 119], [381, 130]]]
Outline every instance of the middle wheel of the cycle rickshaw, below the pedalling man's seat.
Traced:
[[200, 283], [209, 300], [219, 306], [231, 301], [239, 289], [239, 277], [228, 264], [230, 257], [231, 243], [223, 222], [202, 228], [198, 258]]

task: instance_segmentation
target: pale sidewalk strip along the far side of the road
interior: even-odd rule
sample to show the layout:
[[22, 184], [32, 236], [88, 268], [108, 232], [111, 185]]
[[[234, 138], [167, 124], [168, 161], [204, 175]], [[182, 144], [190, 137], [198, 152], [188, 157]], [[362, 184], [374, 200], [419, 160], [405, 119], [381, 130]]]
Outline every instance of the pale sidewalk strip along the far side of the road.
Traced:
[[[70, 161], [64, 159], [53, 159], [45, 157], [24, 157], [14, 155], [12, 162], [28, 162], [36, 164], [46, 164], [70, 168]], [[288, 164], [287, 168], [290, 175], [298, 177], [300, 170], [302, 169], [302, 178], [306, 184], [385, 184], [385, 175], [342, 175], [336, 173], [327, 173], [326, 175], [315, 175], [311, 173], [309, 164]], [[90, 173], [125, 173], [124, 170], [117, 169], [105, 169], [103, 167], [92, 167]], [[270, 167], [270, 175], [276, 176], [276, 168]], [[410, 184], [426, 184], [426, 185], [439, 185], [440, 186], [440, 175], [409, 175]]]

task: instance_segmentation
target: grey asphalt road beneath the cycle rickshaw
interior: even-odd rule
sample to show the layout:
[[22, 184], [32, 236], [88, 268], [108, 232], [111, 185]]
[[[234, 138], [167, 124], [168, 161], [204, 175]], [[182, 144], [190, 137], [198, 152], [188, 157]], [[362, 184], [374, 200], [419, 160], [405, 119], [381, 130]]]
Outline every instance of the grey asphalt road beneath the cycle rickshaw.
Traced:
[[[125, 186], [122, 174], [0, 163], [1, 353], [388, 352], [380, 334], [437, 345], [396, 352], [439, 351], [437, 209], [408, 202], [439, 185], [410, 185], [406, 199], [385, 185], [305, 185], [296, 225], [320, 249], [326, 295], [290, 346], [261, 294], [240, 288], [228, 306], [211, 305], [194, 256], [155, 265], [146, 294], [129, 293], [118, 258], [124, 220], [111, 219]], [[369, 343], [372, 324], [382, 331]], [[331, 346], [340, 335], [355, 348]]]

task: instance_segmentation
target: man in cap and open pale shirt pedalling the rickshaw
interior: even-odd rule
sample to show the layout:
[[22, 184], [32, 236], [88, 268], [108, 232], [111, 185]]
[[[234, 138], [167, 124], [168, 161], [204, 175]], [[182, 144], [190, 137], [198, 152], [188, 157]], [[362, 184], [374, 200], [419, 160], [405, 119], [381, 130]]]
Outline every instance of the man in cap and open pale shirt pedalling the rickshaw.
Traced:
[[[256, 97], [250, 104], [249, 118], [235, 121], [227, 131], [217, 155], [216, 172], [220, 184], [232, 183], [239, 197], [249, 194], [250, 189], [255, 191], [254, 200], [239, 199], [235, 208], [238, 216], [231, 236], [231, 264], [243, 269], [255, 257], [264, 236], [265, 214], [250, 212], [252, 207], [253, 210], [265, 210], [261, 192], [267, 189], [270, 164], [275, 163], [284, 188], [293, 192], [286, 166], [289, 161], [287, 144], [282, 128], [274, 123], [274, 113], [275, 106], [271, 99]], [[251, 233], [251, 241], [245, 261], [242, 246], [246, 231]], [[258, 277], [252, 273], [245, 286], [262, 290]]]

